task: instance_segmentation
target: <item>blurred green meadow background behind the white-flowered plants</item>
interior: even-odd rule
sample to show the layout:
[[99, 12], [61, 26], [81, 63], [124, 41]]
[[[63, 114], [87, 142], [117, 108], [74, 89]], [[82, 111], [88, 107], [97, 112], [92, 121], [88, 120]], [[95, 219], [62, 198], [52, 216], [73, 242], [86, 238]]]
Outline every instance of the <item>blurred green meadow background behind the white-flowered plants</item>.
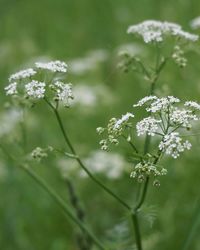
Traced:
[[[199, 15], [197, 0], [0, 0], [1, 122], [12, 122], [4, 117], [8, 98], [3, 90], [11, 73], [39, 58], [64, 60], [73, 66], [87, 58], [91, 51], [98, 50], [101, 58], [94, 68], [91, 65], [91, 69], [79, 70], [76, 74], [76, 69], [70, 72], [69, 67], [68, 75], [74, 86], [97, 88], [98, 103], [94, 106], [80, 103], [70, 110], [62, 110], [70, 137], [80, 154], [87, 157], [99, 149], [96, 127], [104, 126], [110, 117], [131, 111], [132, 104], [148, 93], [147, 83], [140, 75], [125, 74], [117, 67], [118, 48], [135, 42], [133, 36], [126, 34], [127, 27], [145, 19], [160, 19], [177, 22], [189, 30], [189, 22]], [[142, 42], [141, 46], [144, 46]], [[147, 47], [143, 48], [148, 51]], [[179, 98], [200, 100], [198, 53], [198, 50], [188, 53], [185, 69], [167, 65], [158, 83], [159, 93], [167, 88], [167, 93]], [[148, 58], [148, 62], [151, 61], [152, 58]], [[81, 62], [79, 67], [85, 64], [84, 60]], [[25, 136], [22, 126], [17, 124], [12, 132], [0, 138], [1, 144], [15, 157], [22, 154], [18, 145], [25, 145], [24, 141], [26, 153], [37, 146], [65, 147], [53, 114], [43, 103], [26, 111]], [[168, 175], [162, 179], [160, 188], [150, 187], [144, 208], [149, 216], [142, 219], [141, 227], [144, 249], [183, 249], [194, 221], [196, 230], [189, 249], [200, 249], [199, 145], [197, 136], [193, 138], [191, 152], [178, 160], [166, 158], [163, 164], [169, 169]], [[127, 150], [126, 145], [116, 148], [125, 159]], [[2, 152], [0, 155], [0, 249], [78, 250], [77, 228], [65, 220], [57, 205], [23, 170], [14, 166]], [[59, 156], [46, 159], [35, 164], [34, 170], [69, 200], [66, 183], [56, 166], [59, 161]], [[124, 165], [126, 169], [128, 163]], [[99, 178], [133, 204], [136, 182], [129, 178], [129, 173], [124, 171], [117, 179], [102, 173]], [[118, 244], [118, 250], [132, 249], [128, 248], [132, 244], [132, 229], [125, 223], [126, 211], [91, 180], [76, 174], [70, 176], [86, 219], [98, 238], [102, 242], [121, 240], [124, 245], [127, 242], [127, 246]], [[129, 233], [124, 228], [128, 228]]]

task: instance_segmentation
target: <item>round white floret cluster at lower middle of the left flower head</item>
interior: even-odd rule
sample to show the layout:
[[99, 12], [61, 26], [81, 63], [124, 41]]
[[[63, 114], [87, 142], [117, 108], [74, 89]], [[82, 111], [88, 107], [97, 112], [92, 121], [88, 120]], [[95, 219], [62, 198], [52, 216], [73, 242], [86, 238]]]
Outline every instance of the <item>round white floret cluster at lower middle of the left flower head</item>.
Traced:
[[40, 99], [44, 97], [45, 86], [44, 82], [33, 80], [25, 85], [25, 91], [29, 97]]

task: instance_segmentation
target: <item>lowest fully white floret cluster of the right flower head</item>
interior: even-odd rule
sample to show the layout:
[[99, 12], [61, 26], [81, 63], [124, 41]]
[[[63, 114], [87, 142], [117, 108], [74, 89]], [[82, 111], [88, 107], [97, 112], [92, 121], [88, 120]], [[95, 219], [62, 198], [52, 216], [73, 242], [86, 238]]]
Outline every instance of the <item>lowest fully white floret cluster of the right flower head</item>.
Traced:
[[182, 138], [178, 132], [173, 132], [164, 136], [159, 144], [159, 149], [176, 159], [180, 156], [181, 152], [185, 149], [189, 150], [191, 146], [189, 141], [182, 142]]

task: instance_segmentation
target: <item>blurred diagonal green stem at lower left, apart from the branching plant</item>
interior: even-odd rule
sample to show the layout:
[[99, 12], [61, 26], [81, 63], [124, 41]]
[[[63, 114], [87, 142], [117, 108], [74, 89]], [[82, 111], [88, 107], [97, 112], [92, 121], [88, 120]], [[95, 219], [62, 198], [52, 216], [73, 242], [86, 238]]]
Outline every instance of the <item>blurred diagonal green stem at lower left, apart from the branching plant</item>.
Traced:
[[77, 224], [81, 230], [88, 234], [91, 240], [98, 246], [101, 250], [106, 250], [106, 248], [99, 242], [96, 236], [74, 215], [71, 208], [63, 201], [63, 199], [45, 182], [43, 178], [34, 173], [30, 168], [26, 165], [21, 166], [55, 201], [56, 203], [63, 209], [65, 214], [75, 223]]

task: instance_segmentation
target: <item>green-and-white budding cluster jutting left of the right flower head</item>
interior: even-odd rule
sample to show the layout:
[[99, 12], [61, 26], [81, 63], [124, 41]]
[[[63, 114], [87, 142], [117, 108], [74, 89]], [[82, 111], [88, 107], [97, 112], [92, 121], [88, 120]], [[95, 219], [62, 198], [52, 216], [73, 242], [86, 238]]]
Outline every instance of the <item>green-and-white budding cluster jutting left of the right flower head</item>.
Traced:
[[98, 134], [102, 134], [106, 131], [108, 135], [107, 139], [103, 139], [99, 143], [102, 150], [108, 150], [109, 144], [118, 145], [118, 137], [123, 134], [126, 127], [130, 126], [129, 119], [133, 117], [134, 115], [128, 112], [125, 115], [122, 115], [122, 117], [118, 120], [116, 118], [110, 119], [107, 128], [97, 128]]

